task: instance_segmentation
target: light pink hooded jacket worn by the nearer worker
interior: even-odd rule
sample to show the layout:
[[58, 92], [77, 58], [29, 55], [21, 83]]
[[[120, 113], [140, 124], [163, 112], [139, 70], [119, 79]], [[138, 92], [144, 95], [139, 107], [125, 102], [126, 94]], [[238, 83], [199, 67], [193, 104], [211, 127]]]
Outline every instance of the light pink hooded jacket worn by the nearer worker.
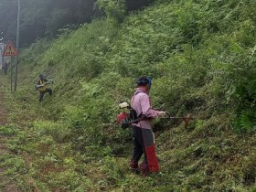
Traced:
[[132, 98], [132, 108], [137, 112], [138, 117], [142, 114], [146, 117], [145, 120], [141, 120], [139, 123], [133, 123], [133, 126], [151, 129], [151, 119], [157, 117], [158, 111], [151, 109], [149, 96], [142, 88], [136, 88]]

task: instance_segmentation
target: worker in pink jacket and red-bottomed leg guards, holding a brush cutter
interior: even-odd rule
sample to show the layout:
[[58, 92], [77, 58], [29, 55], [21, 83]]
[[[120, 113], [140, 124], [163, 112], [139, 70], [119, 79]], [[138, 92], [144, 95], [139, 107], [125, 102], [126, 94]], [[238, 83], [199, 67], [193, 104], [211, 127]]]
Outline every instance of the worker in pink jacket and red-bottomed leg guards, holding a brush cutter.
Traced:
[[[151, 108], [149, 90], [151, 79], [141, 77], [136, 80], [136, 90], [132, 98], [132, 108], [136, 111], [138, 123], [133, 123], [133, 157], [130, 167], [141, 170], [143, 176], [150, 172], [159, 172], [159, 165], [155, 155], [155, 135], [152, 131], [152, 120], [165, 116], [166, 112], [155, 111]], [[139, 166], [138, 162], [144, 155], [144, 161]]]

